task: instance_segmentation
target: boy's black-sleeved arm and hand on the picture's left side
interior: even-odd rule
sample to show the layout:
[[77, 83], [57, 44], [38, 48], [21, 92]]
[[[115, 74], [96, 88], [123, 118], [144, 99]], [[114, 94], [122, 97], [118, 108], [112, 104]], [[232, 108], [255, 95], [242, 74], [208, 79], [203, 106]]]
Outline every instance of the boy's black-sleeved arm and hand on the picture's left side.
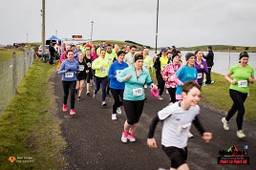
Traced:
[[149, 126], [149, 131], [148, 131], [148, 135], [147, 135], [147, 144], [149, 147], [151, 148], [157, 148], [157, 142], [156, 139], [154, 138], [154, 133], [156, 130], [156, 127], [158, 125], [160, 121], [160, 117], [157, 115], [156, 117], [154, 117], [150, 123]]

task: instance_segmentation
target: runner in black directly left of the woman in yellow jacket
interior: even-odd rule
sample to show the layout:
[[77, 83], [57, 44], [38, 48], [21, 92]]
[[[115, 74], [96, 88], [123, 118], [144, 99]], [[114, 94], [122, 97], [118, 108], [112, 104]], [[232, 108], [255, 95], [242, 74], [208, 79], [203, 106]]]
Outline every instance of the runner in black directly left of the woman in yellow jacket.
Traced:
[[93, 57], [90, 55], [89, 49], [87, 49], [85, 51], [84, 61], [85, 61], [86, 65], [88, 66], [88, 70], [89, 70], [87, 77], [86, 77], [86, 89], [87, 89], [86, 95], [90, 96], [91, 95], [90, 86], [92, 86], [92, 84], [93, 84], [94, 73], [92, 70]]

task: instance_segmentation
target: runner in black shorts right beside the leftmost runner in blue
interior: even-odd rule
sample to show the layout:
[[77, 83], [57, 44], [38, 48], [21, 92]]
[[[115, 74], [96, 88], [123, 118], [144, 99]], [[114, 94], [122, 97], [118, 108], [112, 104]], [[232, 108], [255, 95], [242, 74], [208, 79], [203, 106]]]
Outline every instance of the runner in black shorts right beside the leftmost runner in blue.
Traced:
[[76, 90], [78, 90], [78, 97], [77, 100], [81, 101], [81, 94], [84, 88], [84, 82], [86, 79], [86, 74], [89, 73], [89, 68], [87, 66], [87, 64], [84, 61], [84, 57], [83, 57], [83, 53], [78, 53], [78, 64], [79, 64], [79, 68], [80, 71], [77, 72], [76, 77], [77, 77], [77, 81], [76, 81]]

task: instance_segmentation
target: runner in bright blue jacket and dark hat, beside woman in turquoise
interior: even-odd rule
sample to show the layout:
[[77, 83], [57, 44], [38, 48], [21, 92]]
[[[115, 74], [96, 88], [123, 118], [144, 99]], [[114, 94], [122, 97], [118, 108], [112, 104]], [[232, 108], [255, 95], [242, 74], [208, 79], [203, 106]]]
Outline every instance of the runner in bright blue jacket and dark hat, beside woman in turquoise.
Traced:
[[117, 76], [123, 69], [128, 67], [128, 64], [123, 62], [125, 52], [119, 51], [117, 53], [117, 61], [114, 62], [109, 69], [108, 77], [110, 78], [111, 94], [114, 97], [113, 114], [112, 119], [117, 119], [117, 114], [121, 114], [121, 108], [123, 102], [124, 83], [117, 81]]

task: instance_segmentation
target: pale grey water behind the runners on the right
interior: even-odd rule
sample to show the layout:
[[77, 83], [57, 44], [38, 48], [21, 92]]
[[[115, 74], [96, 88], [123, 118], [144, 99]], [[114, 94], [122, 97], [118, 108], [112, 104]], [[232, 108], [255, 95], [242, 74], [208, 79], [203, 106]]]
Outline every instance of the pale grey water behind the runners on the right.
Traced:
[[[185, 61], [185, 54], [188, 51], [181, 51], [182, 60]], [[194, 52], [191, 52], [194, 53]], [[206, 54], [207, 52], [203, 52]], [[228, 69], [233, 65], [237, 64], [239, 61], [239, 53], [228, 53], [228, 52], [213, 52], [214, 53], [214, 66], [212, 67], [212, 72], [217, 74], [226, 74]], [[251, 65], [254, 69], [256, 69], [256, 53], [248, 53], [249, 61], [248, 64]], [[150, 56], [155, 55], [155, 51], [150, 51]], [[255, 70], [256, 71], [256, 70]]]

